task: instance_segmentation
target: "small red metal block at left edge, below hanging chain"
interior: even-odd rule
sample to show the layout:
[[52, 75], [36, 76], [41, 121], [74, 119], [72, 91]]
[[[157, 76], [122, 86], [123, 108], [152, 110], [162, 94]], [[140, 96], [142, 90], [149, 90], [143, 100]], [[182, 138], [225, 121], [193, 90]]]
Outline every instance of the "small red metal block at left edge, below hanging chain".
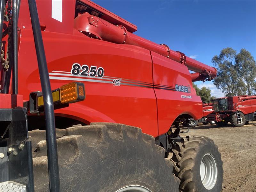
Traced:
[[0, 109], [23, 107], [23, 95], [0, 94]]

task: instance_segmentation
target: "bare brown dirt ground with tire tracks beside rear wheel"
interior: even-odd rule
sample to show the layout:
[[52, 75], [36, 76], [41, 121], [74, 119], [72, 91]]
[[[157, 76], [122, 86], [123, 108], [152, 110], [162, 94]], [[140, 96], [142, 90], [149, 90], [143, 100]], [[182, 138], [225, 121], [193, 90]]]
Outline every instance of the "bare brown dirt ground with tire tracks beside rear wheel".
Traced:
[[256, 122], [243, 127], [198, 125], [186, 135], [210, 137], [223, 161], [222, 192], [256, 192]]

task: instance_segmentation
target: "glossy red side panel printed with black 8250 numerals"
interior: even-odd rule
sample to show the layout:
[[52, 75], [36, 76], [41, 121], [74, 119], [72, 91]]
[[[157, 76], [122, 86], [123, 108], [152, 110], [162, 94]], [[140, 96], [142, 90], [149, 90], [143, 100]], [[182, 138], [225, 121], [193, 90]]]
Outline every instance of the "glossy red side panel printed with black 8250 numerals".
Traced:
[[[41, 91], [32, 31], [21, 29], [19, 93]], [[55, 110], [59, 116], [84, 122], [116, 122], [140, 127], [157, 136], [156, 97], [150, 52], [132, 45], [118, 45], [87, 36], [42, 32], [52, 89], [72, 81], [85, 85], [86, 99]], [[27, 57], [29, 52], [29, 62]], [[72, 75], [72, 65], [104, 68], [104, 76]], [[81, 72], [84, 70], [81, 70]], [[120, 86], [113, 84], [121, 79]]]

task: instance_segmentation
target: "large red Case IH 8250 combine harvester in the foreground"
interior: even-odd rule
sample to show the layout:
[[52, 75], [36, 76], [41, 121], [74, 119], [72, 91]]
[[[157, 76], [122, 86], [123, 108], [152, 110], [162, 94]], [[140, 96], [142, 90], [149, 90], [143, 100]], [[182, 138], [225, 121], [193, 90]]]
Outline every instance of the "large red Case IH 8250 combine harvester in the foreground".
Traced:
[[180, 136], [215, 68], [89, 0], [1, 1], [0, 16], [0, 189], [220, 192], [217, 146]]

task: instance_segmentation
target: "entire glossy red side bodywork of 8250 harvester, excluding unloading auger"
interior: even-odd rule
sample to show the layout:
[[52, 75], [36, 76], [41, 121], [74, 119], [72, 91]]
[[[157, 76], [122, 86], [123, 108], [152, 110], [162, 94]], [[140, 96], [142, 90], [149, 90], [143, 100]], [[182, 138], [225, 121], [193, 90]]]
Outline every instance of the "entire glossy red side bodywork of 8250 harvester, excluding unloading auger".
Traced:
[[[196, 96], [187, 66], [135, 45], [91, 39], [74, 31], [75, 1], [63, 1], [62, 23], [51, 18], [51, 1], [36, 2], [40, 24], [45, 26], [42, 35], [52, 90], [72, 81], [85, 84], [86, 99], [55, 110], [57, 116], [85, 123], [124, 123], [154, 137], [166, 133], [180, 115], [203, 116], [202, 101]], [[19, 94], [28, 100], [30, 92], [41, 91], [41, 85], [25, 0], [21, 0], [18, 26]], [[104, 77], [72, 76], [74, 63], [102, 67]], [[121, 86], [113, 86], [113, 79], [122, 79]], [[176, 84], [189, 86], [191, 91], [176, 91]]]

